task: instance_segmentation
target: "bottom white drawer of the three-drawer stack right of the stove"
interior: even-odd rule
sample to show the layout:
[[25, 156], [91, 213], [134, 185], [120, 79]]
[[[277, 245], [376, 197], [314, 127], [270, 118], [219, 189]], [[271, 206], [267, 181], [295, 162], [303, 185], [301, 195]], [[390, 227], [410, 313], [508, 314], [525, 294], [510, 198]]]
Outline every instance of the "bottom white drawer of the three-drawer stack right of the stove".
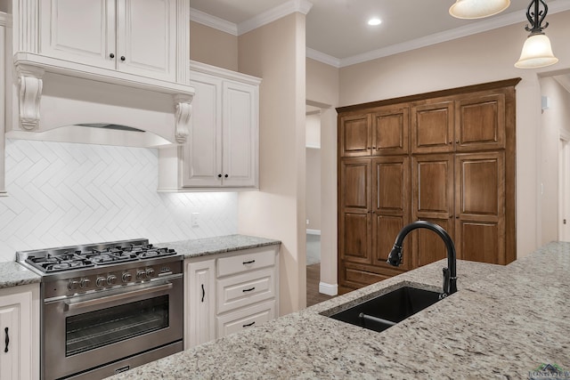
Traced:
[[217, 337], [256, 327], [275, 318], [275, 300], [217, 317]]

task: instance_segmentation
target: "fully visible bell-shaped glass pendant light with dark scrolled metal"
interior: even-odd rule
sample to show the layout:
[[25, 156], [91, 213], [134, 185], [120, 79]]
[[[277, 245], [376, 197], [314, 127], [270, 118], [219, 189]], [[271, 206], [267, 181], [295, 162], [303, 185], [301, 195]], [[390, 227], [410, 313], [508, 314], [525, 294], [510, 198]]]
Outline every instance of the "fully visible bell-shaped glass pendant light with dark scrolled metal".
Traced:
[[[531, 11], [531, 9], [533, 10]], [[526, 19], [528, 19], [533, 28], [528, 28], [528, 25], [525, 27], [525, 30], [531, 32], [531, 34], [526, 38], [525, 44], [523, 44], [523, 51], [520, 53], [517, 63], [515, 63], [516, 68], [536, 69], [558, 62], [558, 58], [552, 53], [549, 37], [542, 31], [542, 29], [549, 26], [548, 22], [544, 26], [541, 25], [548, 11], [549, 7], [544, 3], [544, 0], [533, 0], [528, 5]]]

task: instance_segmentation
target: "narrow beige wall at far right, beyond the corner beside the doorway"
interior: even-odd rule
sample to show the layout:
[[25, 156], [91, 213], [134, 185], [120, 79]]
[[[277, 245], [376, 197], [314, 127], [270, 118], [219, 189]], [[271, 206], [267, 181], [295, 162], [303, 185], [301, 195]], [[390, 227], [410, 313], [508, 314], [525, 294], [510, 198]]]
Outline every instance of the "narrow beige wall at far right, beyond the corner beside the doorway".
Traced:
[[558, 147], [560, 130], [570, 128], [570, 94], [552, 77], [540, 80], [542, 96], [549, 108], [542, 111], [542, 155], [538, 180], [541, 182], [541, 245], [558, 240]]

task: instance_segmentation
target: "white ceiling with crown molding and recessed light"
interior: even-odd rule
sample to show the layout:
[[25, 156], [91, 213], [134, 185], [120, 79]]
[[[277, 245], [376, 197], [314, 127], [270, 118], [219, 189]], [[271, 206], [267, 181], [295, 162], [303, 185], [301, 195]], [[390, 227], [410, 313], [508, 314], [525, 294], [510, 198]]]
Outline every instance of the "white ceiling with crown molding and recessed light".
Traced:
[[[307, 55], [321, 56], [336, 66], [368, 61], [428, 44], [492, 28], [520, 23], [521, 34], [530, 0], [511, 0], [509, 8], [480, 20], [458, 20], [448, 10], [454, 0], [308, 0], [313, 6], [306, 15]], [[250, 24], [260, 15], [305, 0], [190, 0], [191, 10], [207, 13], [233, 25]], [[549, 14], [570, 9], [570, 0], [548, 0]], [[191, 12], [192, 12], [191, 11]], [[376, 16], [377, 27], [366, 21]], [[547, 17], [548, 21], [548, 17]], [[548, 34], [548, 29], [547, 29]], [[312, 57], [316, 58], [316, 57]]]

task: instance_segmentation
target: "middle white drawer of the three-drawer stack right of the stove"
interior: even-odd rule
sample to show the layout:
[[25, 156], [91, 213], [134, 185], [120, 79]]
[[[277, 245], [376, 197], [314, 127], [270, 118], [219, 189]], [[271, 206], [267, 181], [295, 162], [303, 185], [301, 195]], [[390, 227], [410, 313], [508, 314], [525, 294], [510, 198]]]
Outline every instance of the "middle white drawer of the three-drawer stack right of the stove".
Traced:
[[231, 311], [275, 296], [275, 271], [243, 273], [217, 280], [217, 312]]

